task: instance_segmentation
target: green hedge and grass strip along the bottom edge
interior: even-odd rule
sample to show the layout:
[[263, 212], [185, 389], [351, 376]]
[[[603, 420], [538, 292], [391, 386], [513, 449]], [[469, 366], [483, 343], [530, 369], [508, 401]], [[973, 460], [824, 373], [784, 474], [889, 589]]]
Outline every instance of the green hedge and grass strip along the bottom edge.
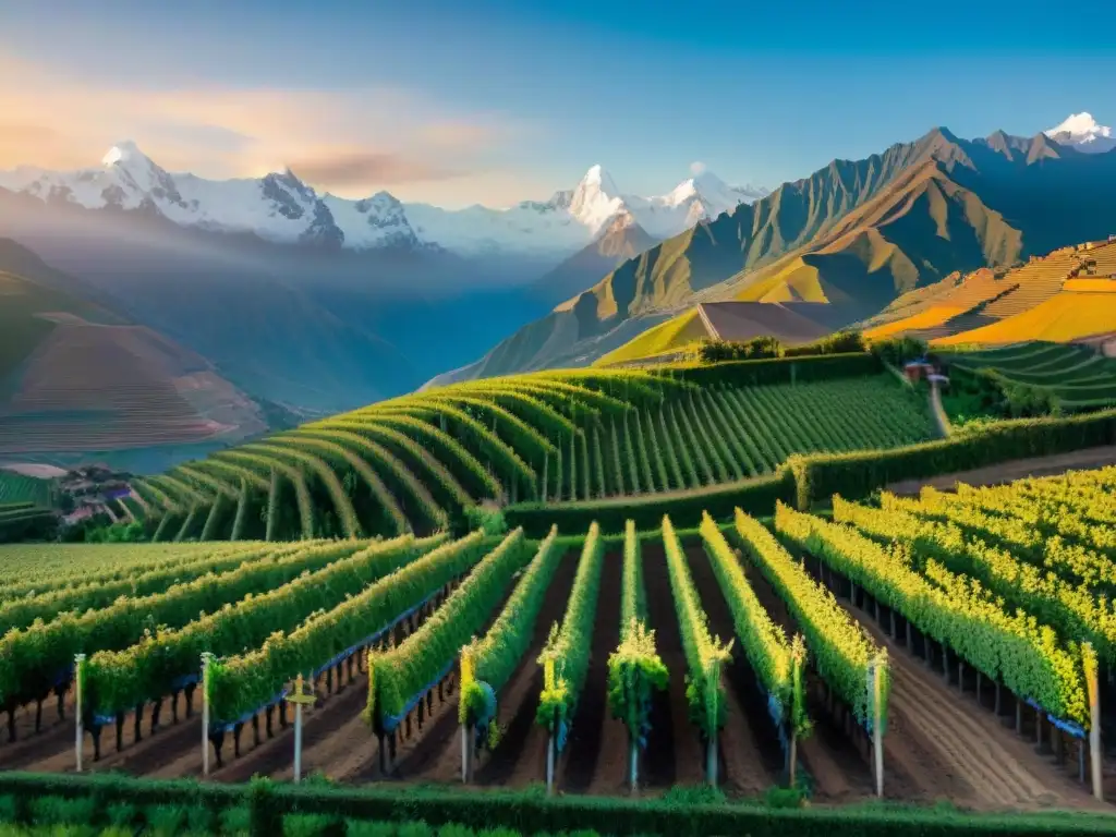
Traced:
[[[518, 835], [663, 835], [663, 837], [893, 837], [942, 835], [1103, 835], [1116, 815], [1065, 811], [974, 816], [949, 807], [891, 804], [847, 808], [781, 807], [769, 800], [725, 802], [686, 791], [661, 800], [547, 798], [541, 790], [460, 792], [408, 788], [203, 785], [118, 776], [6, 773], [0, 822], [23, 828], [79, 826], [126, 834], [376, 835], [518, 837]], [[773, 802], [773, 804], [772, 804]], [[2, 827], [2, 826], [0, 826]], [[97, 834], [97, 830], [64, 834]], [[26, 831], [25, 831], [26, 833]], [[42, 834], [32, 830], [30, 834]], [[49, 834], [50, 831], [46, 831]], [[113, 831], [118, 834], [121, 831]], [[2, 831], [0, 831], [2, 834]], [[16, 831], [20, 834], [20, 831]]]

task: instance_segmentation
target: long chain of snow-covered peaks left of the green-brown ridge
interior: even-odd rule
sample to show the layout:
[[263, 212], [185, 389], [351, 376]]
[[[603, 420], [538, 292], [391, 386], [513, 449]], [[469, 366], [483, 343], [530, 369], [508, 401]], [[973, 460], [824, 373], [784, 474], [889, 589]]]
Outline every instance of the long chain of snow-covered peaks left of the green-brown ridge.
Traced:
[[182, 227], [248, 232], [285, 243], [559, 256], [591, 243], [625, 212], [650, 235], [664, 239], [767, 194], [753, 186], [730, 186], [702, 171], [665, 195], [641, 198], [623, 193], [595, 165], [574, 189], [556, 192], [546, 202], [446, 210], [402, 203], [387, 192], [358, 201], [318, 194], [289, 170], [228, 181], [172, 174], [133, 142], [114, 145], [96, 169], [22, 166], [0, 172], [0, 189], [90, 210], [153, 212]]

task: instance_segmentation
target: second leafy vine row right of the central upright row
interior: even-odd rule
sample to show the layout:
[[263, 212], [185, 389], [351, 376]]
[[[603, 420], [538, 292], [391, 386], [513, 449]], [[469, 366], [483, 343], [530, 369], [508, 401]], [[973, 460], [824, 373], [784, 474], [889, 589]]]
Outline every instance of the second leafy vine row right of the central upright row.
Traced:
[[[750, 518], [749, 518], [750, 519]], [[740, 519], [737, 519], [740, 526]], [[796, 710], [800, 706], [800, 695], [792, 692], [790, 643], [782, 628], [776, 625], [760, 604], [756, 591], [748, 583], [744, 570], [737, 556], [725, 540], [724, 533], [709, 513], [702, 516], [702, 541], [705, 555], [713, 567], [721, 593], [724, 594], [732, 612], [732, 623], [737, 628], [737, 637], [744, 651], [744, 656], [756, 672], [760, 683], [773, 695], [783, 710]], [[792, 712], [788, 718], [792, 723], [805, 711]]]

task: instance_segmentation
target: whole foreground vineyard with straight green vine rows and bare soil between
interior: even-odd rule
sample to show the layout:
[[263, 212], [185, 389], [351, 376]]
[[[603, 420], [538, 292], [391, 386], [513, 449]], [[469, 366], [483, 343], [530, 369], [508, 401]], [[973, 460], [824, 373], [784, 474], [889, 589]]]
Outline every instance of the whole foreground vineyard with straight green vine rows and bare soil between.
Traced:
[[68, 575], [4, 548], [0, 766], [74, 769], [79, 681], [86, 769], [200, 776], [209, 652], [222, 781], [291, 777], [302, 674], [302, 769], [343, 782], [1104, 810], [1114, 491], [1108, 468], [693, 530], [81, 547]]

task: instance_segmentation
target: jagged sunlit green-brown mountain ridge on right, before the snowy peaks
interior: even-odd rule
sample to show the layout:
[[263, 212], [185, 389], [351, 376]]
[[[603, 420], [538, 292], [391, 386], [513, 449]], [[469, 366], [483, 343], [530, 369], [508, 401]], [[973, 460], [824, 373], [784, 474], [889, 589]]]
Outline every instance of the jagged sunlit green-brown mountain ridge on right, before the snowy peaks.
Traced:
[[1114, 153], [935, 128], [656, 244], [436, 381], [591, 362], [700, 301], [839, 302], [849, 323], [867, 319], [955, 271], [1103, 239], [1116, 230], [1113, 189]]

